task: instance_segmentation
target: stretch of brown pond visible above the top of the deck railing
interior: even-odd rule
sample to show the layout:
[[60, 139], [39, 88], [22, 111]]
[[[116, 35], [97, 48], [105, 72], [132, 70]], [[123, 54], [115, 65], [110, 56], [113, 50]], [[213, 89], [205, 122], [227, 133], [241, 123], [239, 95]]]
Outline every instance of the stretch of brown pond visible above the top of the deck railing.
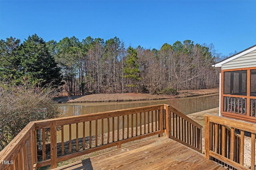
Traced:
[[198, 111], [212, 109], [219, 106], [219, 95], [204, 95], [188, 98], [175, 98], [167, 100], [143, 100], [129, 102], [91, 102], [91, 103], [73, 103], [60, 104], [62, 109], [61, 117], [84, 115], [98, 113], [102, 111], [111, 111], [119, 109], [128, 109], [133, 107], [150, 106], [157, 104], [168, 104], [175, 107], [182, 113], [188, 115]]

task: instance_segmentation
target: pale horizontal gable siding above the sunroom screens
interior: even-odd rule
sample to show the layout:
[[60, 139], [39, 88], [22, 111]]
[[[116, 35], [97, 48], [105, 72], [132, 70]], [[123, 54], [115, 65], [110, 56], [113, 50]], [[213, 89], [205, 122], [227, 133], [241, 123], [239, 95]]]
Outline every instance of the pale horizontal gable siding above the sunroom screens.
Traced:
[[222, 64], [222, 70], [248, 67], [256, 67], [256, 50], [238, 57], [226, 64]]

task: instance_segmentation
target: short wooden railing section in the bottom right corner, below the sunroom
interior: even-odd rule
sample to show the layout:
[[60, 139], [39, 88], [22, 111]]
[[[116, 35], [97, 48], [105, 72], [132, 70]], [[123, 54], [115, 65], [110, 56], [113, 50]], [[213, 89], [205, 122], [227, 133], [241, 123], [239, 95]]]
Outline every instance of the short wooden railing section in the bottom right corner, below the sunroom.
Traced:
[[[230, 128], [229, 128], [230, 127]], [[240, 135], [235, 133], [240, 132]], [[251, 133], [251, 169], [255, 166], [256, 124], [226, 117], [205, 115], [205, 157], [232, 169], [244, 166], [244, 134]]]

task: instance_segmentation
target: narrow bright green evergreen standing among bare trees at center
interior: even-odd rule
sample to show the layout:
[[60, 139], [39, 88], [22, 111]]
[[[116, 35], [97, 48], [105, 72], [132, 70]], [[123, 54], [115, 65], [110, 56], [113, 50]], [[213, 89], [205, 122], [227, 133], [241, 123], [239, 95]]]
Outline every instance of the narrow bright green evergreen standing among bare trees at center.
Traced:
[[[135, 87], [138, 87], [138, 81], [141, 80], [141, 77], [138, 73], [139, 64], [137, 64], [138, 57], [136, 49], [129, 47], [127, 50], [127, 59], [125, 60], [126, 66], [124, 67], [124, 78], [127, 78], [128, 84], [127, 87], [130, 88], [130, 93], [135, 92]], [[138, 88], [137, 88], [138, 92]]]

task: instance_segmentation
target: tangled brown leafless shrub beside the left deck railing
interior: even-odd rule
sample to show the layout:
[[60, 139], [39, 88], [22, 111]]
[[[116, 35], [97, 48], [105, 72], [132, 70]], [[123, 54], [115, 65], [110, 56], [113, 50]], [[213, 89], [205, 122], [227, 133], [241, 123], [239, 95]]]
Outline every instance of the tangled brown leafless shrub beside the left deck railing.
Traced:
[[[0, 81], [0, 150], [30, 122], [56, 118], [60, 109], [50, 88]], [[40, 108], [46, 108], [40, 111]], [[45, 109], [43, 109], [45, 110]]]

